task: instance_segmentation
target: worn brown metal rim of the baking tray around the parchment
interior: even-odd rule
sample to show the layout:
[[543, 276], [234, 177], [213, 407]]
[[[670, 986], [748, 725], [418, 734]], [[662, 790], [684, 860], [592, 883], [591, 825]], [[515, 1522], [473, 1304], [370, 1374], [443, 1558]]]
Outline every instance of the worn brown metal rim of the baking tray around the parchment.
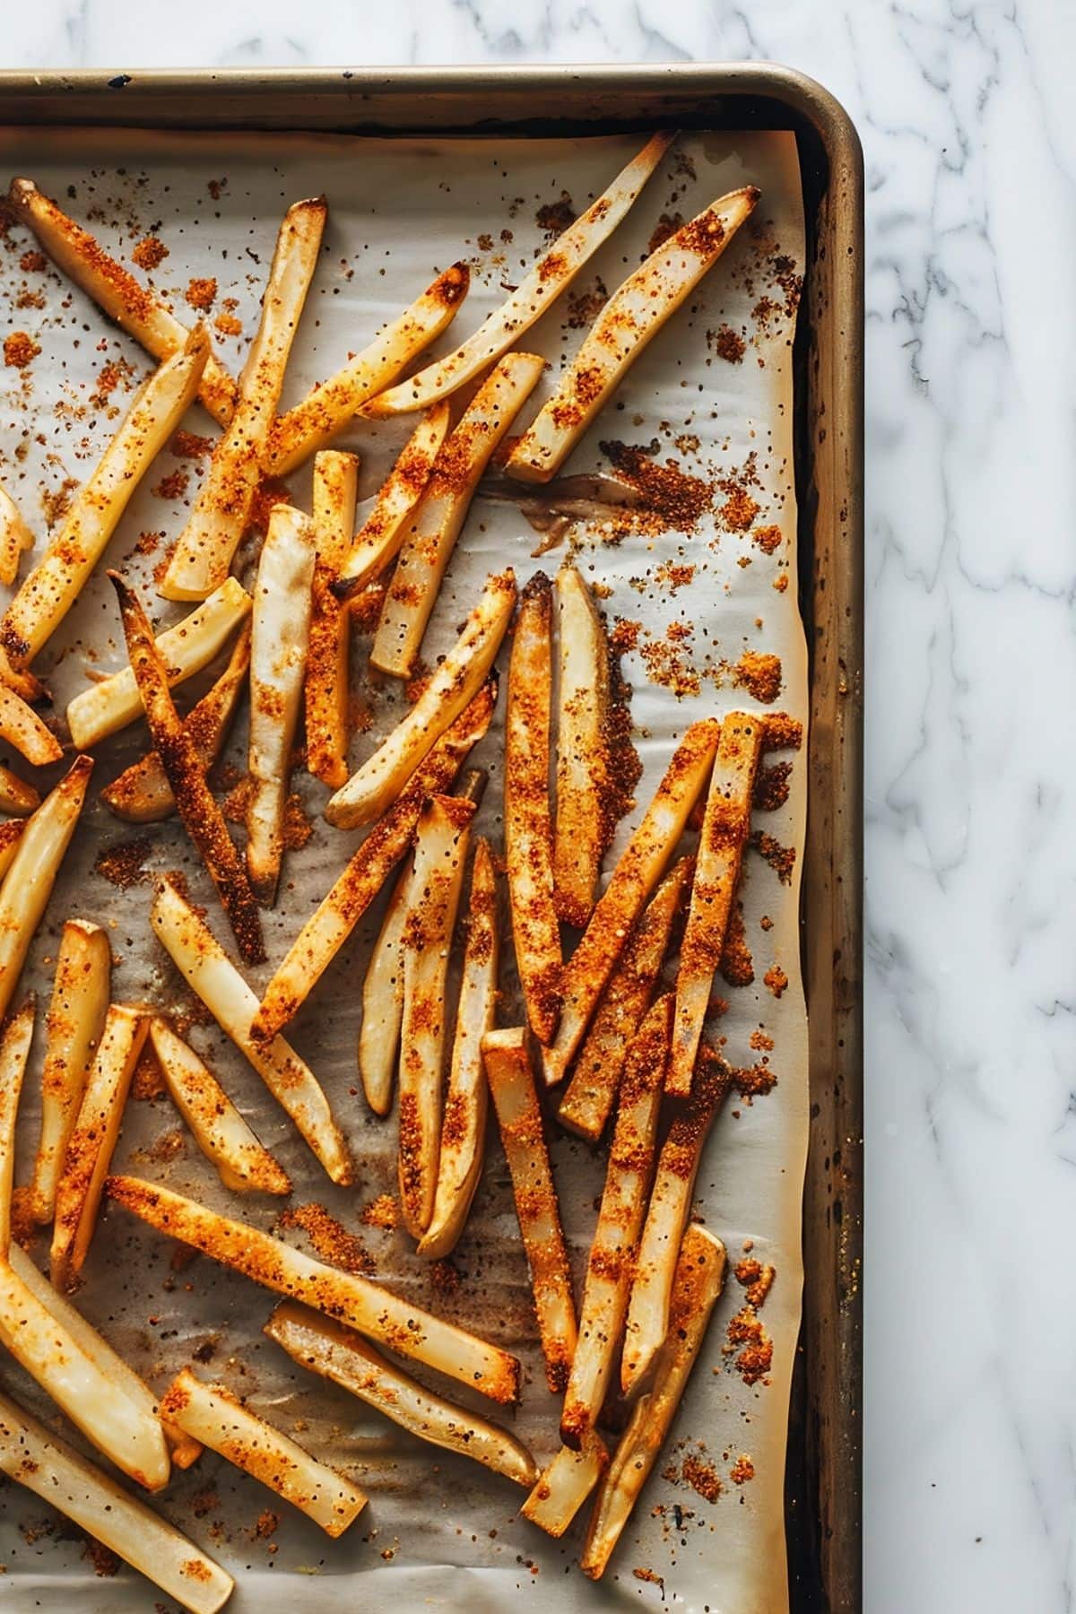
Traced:
[[811, 1131], [786, 1512], [792, 1606], [861, 1601], [863, 163], [842, 107], [787, 68], [0, 73], [5, 124], [348, 134], [790, 129], [807, 211], [795, 352], [800, 607], [810, 650], [803, 980]]

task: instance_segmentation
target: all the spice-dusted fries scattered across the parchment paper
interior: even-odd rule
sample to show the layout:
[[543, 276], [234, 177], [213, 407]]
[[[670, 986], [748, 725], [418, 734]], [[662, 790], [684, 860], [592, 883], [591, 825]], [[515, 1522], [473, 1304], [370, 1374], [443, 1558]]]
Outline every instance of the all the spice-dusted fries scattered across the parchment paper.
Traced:
[[[377, 676], [411, 678], [498, 444], [515, 429], [508, 476], [553, 476], [632, 360], [750, 216], [758, 192], [745, 187], [665, 239], [613, 292], [553, 395], [521, 428], [545, 366], [518, 344], [636, 203], [671, 140], [653, 136], [455, 352], [415, 370], [465, 307], [461, 263], [287, 413], [279, 400], [318, 263], [324, 199], [287, 210], [260, 326], [234, 378], [202, 326], [184, 328], [29, 179], [11, 182], [16, 223], [147, 349], [156, 370], [21, 581], [34, 539], [0, 489], [0, 578], [15, 584], [0, 620], [0, 736], [31, 768], [58, 762], [68, 738], [77, 747], [44, 799], [31, 780], [6, 768], [0, 775], [0, 805], [11, 815], [0, 825], [0, 1343], [85, 1441], [148, 1491], [163, 1490], [173, 1464], [186, 1467], [208, 1446], [329, 1537], [366, 1504], [348, 1477], [273, 1428], [234, 1386], [186, 1369], [156, 1394], [90, 1328], [71, 1296], [92, 1282], [105, 1199], [281, 1294], [265, 1328], [271, 1340], [421, 1440], [523, 1486], [521, 1511], [536, 1527], [560, 1537], [592, 1498], [582, 1548], [590, 1577], [610, 1561], [699, 1356], [726, 1265], [719, 1240], [690, 1220], [699, 1157], [729, 1085], [705, 1023], [760, 757], [787, 744], [787, 723], [755, 712], [692, 723], [611, 862], [610, 644], [595, 596], [565, 563], [552, 579], [534, 573], [523, 589], [510, 567], [492, 573], [448, 654], [411, 688], [405, 717], [358, 767], [348, 733], [358, 604], [379, 612], [371, 649]], [[189, 615], [155, 636], [139, 591], [110, 571], [129, 665], [69, 702], [65, 734], [40, 717], [45, 691], [34, 663], [103, 563], [132, 491], [198, 402], [221, 434], [160, 575], [161, 597], [186, 602]], [[413, 413], [415, 429], [358, 525], [358, 457], [331, 442], [357, 418], [397, 413]], [[237, 578], [263, 476], [307, 458], [311, 512], [277, 504], [252, 575]], [[177, 686], [221, 652], [227, 662], [211, 689], [182, 712]], [[502, 681], [497, 846], [476, 833], [487, 773], [466, 762], [490, 728]], [[245, 696], [248, 789], [239, 844], [211, 768]], [[361, 915], [387, 894], [355, 993], [361, 1091], [384, 1125], [392, 1125], [395, 1098], [402, 1220], [427, 1259], [447, 1256], [466, 1227], [492, 1098], [548, 1390], [560, 1398], [561, 1445], [544, 1469], [500, 1424], [410, 1372], [416, 1364], [511, 1407], [521, 1377], [515, 1356], [239, 1215], [110, 1175], [148, 1039], [182, 1122], [224, 1188], [292, 1193], [289, 1173], [181, 1030], [155, 1006], [113, 1001], [106, 931], [82, 917], [65, 917], [40, 1030], [42, 1120], [27, 1204], [32, 1222], [50, 1228], [48, 1278], [13, 1240], [16, 1115], [37, 1018], [32, 999], [16, 1006], [19, 973], [79, 826], [95, 771], [90, 752], [132, 723], [145, 723], [145, 754], [103, 786], [102, 799], [129, 823], [177, 815], [221, 910], [195, 909], [165, 878], [148, 923], [337, 1185], [355, 1175], [347, 1128], [284, 1031]], [[266, 962], [263, 912], [286, 902], [286, 812], [298, 755], [331, 791], [327, 823], [366, 833], [258, 994], [244, 970]], [[686, 834], [694, 846], [684, 846]], [[498, 1023], [508, 947], [523, 993], [519, 1025]], [[458, 991], [450, 988], [453, 957]], [[547, 1146], [555, 1123], [592, 1143], [611, 1133], [581, 1293]], [[208, 1614], [227, 1599], [232, 1582], [219, 1566], [6, 1398], [0, 1467], [184, 1608]]]

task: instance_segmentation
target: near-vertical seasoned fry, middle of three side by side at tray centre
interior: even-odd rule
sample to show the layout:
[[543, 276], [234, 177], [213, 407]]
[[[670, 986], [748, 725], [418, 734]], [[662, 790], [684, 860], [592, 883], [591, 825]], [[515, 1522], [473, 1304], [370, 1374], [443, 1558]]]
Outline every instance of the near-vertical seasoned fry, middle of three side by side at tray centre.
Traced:
[[434, 796], [415, 836], [415, 872], [400, 936], [398, 1181], [403, 1225], [421, 1238], [434, 1214], [440, 1156], [448, 954], [457, 928], [474, 802]]

